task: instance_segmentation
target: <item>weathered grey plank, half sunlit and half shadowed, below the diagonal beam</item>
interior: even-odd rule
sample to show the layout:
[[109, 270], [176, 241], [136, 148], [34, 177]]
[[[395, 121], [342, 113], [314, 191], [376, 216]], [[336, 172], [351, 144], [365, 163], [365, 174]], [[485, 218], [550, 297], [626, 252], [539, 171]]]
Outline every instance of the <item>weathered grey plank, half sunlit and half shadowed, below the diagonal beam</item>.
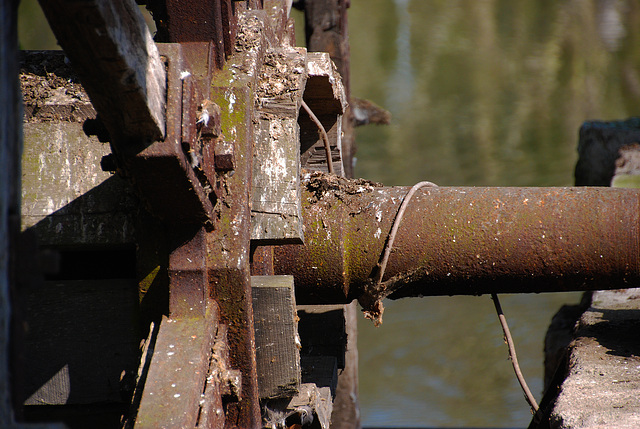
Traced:
[[120, 245], [134, 241], [138, 198], [124, 179], [102, 171], [109, 146], [75, 122], [26, 123], [22, 227], [44, 245]]

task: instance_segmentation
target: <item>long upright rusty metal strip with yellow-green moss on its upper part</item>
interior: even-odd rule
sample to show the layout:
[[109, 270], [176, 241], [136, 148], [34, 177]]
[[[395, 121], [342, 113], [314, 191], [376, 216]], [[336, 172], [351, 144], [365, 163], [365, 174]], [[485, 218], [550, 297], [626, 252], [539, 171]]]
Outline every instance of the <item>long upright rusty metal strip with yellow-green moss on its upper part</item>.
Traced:
[[209, 294], [228, 327], [229, 360], [242, 373], [242, 398], [226, 405], [225, 427], [261, 424], [250, 277], [250, 188], [257, 69], [268, 43], [263, 12], [239, 17], [238, 44], [225, 69], [213, 77], [211, 101], [221, 108], [225, 141], [234, 148], [234, 170], [219, 171], [214, 232], [207, 235]]

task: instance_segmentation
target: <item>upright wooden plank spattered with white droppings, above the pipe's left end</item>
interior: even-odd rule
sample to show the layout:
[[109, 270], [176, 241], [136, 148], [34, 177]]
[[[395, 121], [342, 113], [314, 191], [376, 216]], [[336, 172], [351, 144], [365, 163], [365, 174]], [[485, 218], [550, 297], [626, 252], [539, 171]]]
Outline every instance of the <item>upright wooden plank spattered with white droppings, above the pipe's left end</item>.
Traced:
[[306, 83], [306, 51], [267, 53], [256, 95], [251, 239], [302, 243], [298, 112]]

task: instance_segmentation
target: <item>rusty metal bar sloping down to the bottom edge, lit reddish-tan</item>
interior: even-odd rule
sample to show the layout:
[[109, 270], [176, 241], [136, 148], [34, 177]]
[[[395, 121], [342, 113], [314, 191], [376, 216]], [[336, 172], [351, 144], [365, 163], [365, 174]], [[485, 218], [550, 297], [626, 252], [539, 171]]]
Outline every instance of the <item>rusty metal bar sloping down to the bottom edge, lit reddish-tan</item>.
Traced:
[[[169, 315], [146, 375], [136, 427], [195, 427], [223, 419], [226, 360], [212, 352], [218, 307], [209, 297], [204, 228], [170, 232]], [[226, 338], [223, 339], [226, 341]], [[219, 347], [226, 347], [226, 344]]]

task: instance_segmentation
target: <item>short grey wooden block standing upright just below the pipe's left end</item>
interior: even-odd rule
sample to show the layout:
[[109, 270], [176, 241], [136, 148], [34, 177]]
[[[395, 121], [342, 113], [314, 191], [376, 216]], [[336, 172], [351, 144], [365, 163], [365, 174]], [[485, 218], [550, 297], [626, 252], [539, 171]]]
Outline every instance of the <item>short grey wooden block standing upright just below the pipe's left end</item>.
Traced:
[[291, 276], [251, 277], [261, 399], [292, 397], [300, 385], [300, 352]]

